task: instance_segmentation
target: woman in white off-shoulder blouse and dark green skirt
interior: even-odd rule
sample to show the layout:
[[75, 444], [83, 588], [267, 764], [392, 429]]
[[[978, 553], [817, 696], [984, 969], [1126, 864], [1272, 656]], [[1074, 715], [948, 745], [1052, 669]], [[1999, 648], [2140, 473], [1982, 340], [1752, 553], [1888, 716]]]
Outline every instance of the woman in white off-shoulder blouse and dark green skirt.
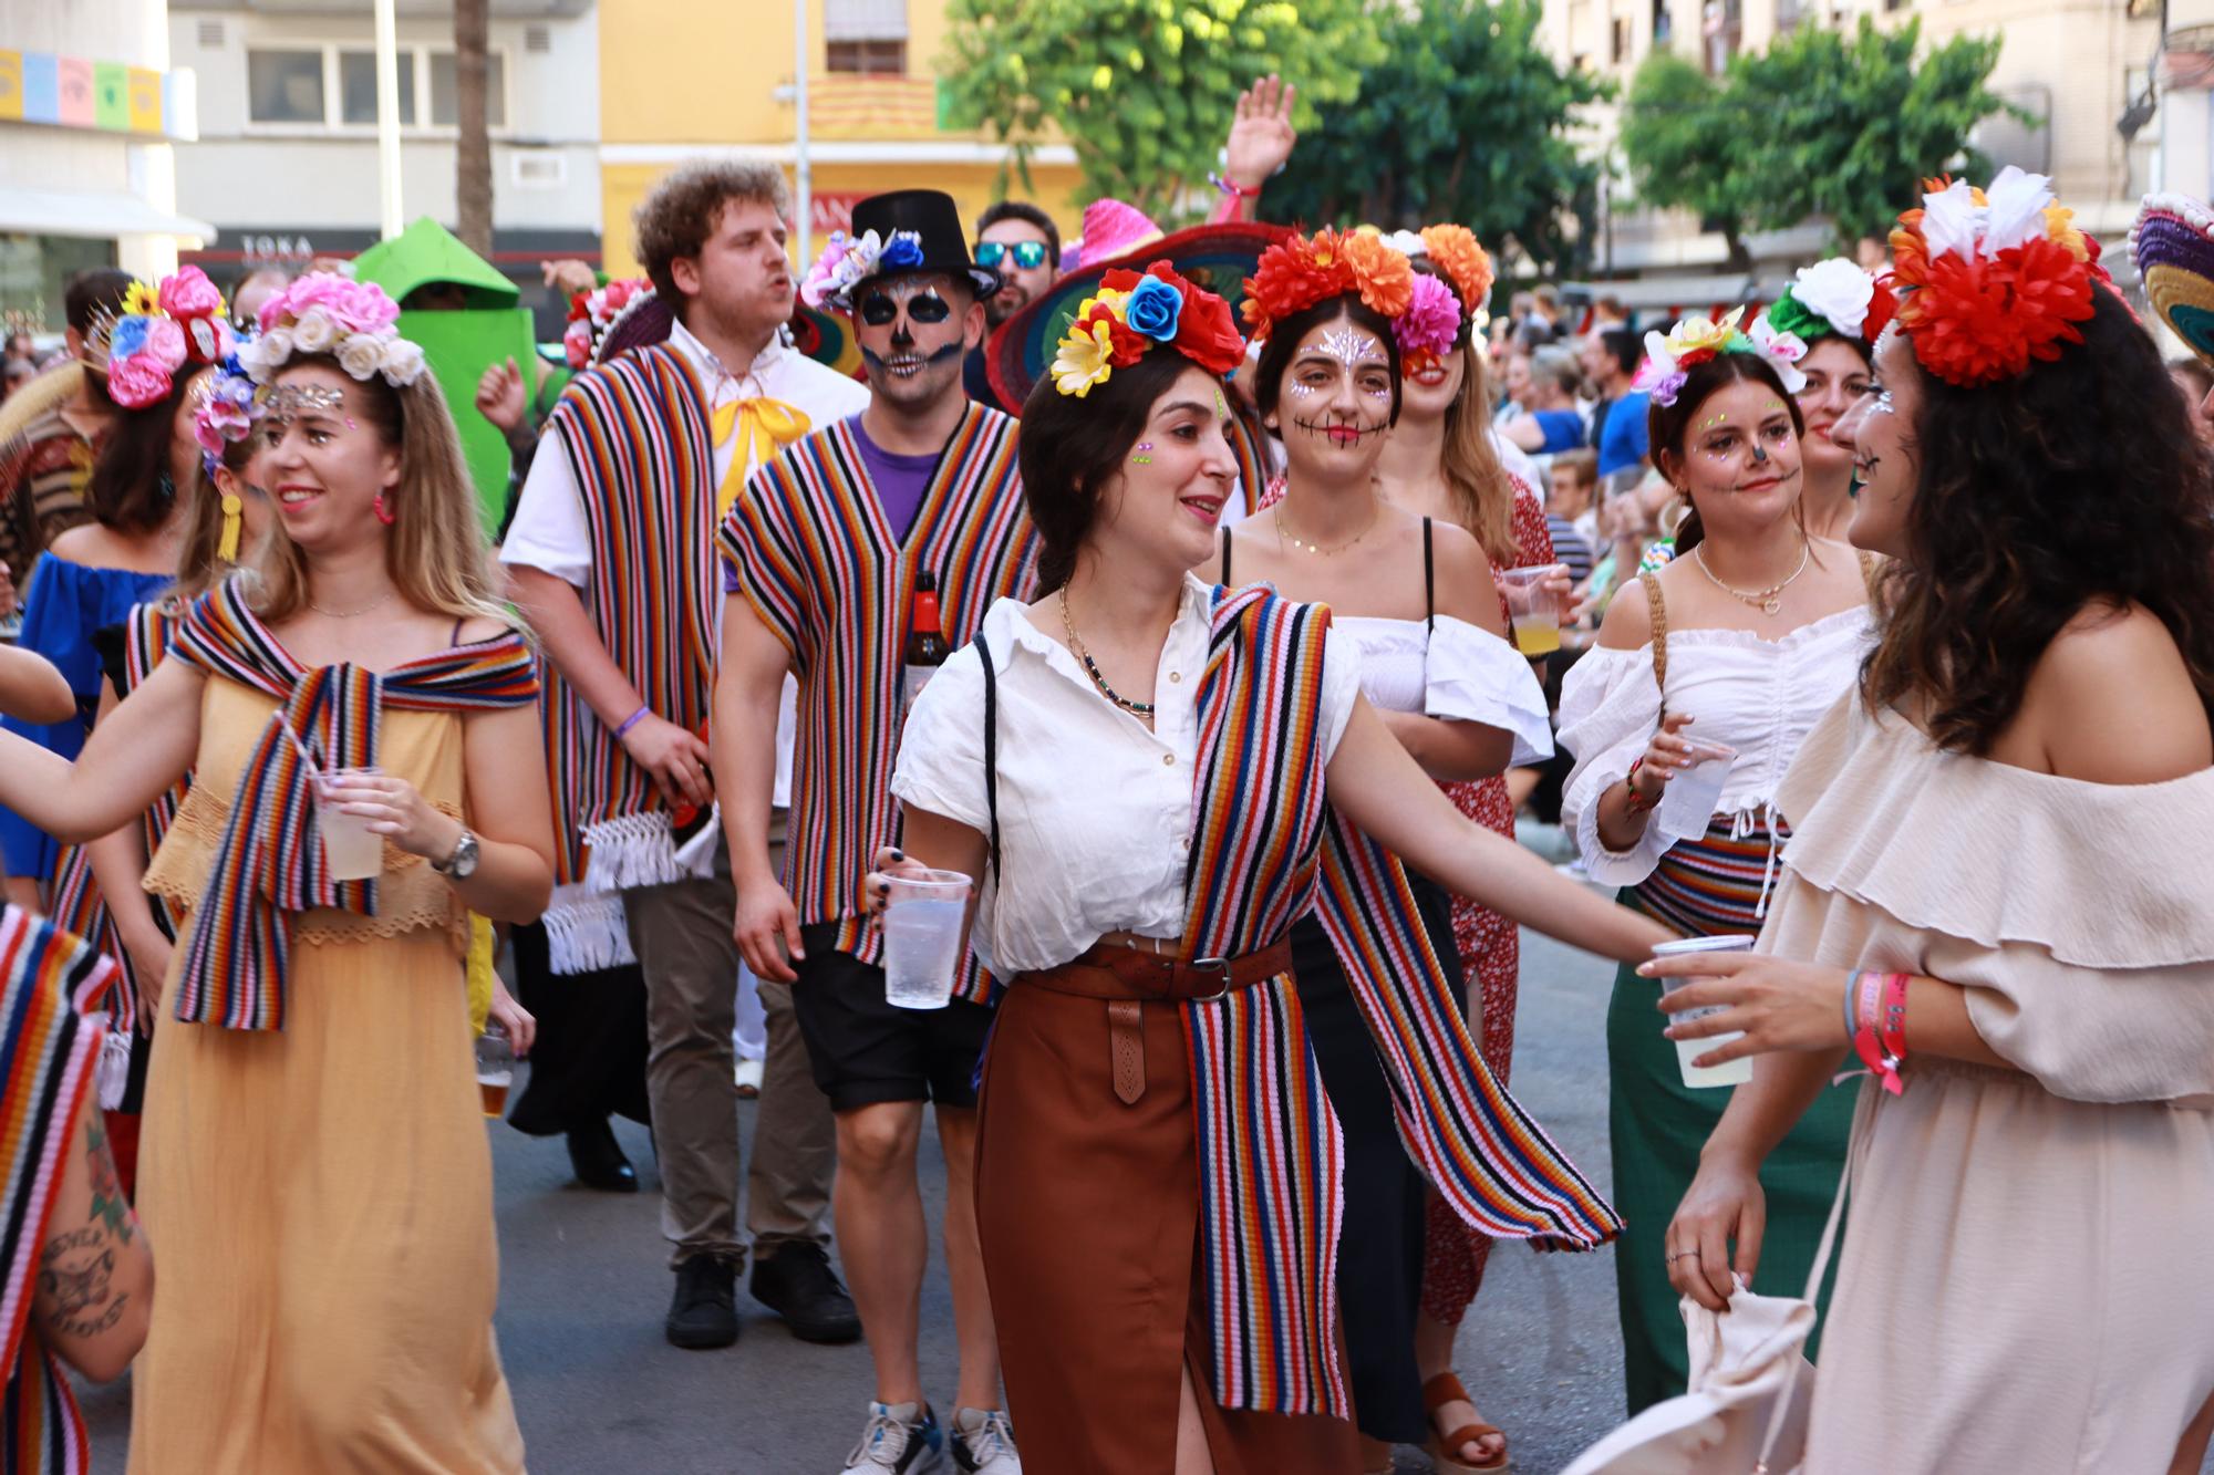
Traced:
[[[1654, 390], [1654, 465], [1691, 512], [1676, 560], [1614, 598], [1599, 644], [1561, 691], [1561, 746], [1576, 755], [1563, 824], [1592, 879], [1683, 937], [1760, 930], [1789, 835], [1778, 784], [1851, 687], [1871, 631], [1860, 558], [1804, 532], [1798, 403], [1771, 361], [1734, 341], [1740, 350], [1687, 368], [1667, 403], [1669, 385]], [[1667, 788], [1707, 753], [1700, 744], [1736, 757], [1711, 813], [1680, 813]], [[1607, 1010], [1614, 1192], [1630, 1220], [1614, 1271], [1632, 1413], [1685, 1386], [1663, 1229], [1729, 1105], [1729, 1090], [1683, 1083], [1656, 1028], [1656, 994], [1625, 968]], [[1849, 1116], [1851, 1092], [1827, 1092], [1762, 1172], [1767, 1293], [1796, 1296], [1807, 1278]]]

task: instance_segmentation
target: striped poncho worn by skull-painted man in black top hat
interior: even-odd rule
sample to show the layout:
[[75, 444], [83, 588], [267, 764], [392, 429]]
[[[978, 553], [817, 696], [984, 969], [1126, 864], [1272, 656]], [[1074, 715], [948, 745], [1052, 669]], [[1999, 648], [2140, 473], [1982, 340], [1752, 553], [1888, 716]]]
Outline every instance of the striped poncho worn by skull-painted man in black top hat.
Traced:
[[[976, 636], [992, 600], [1030, 598], [1036, 582], [1014, 432], [1014, 419], [970, 405], [903, 543], [844, 421], [757, 470], [722, 525], [722, 556], [737, 569], [739, 594], [793, 653], [799, 675], [786, 862], [793, 904], [801, 924], [837, 921], [839, 952], [870, 963], [881, 943], [868, 926], [861, 877], [877, 848], [899, 839], [892, 757], [914, 576], [937, 574], [954, 649]], [[987, 988], [968, 959], [961, 997], [983, 1001]]]

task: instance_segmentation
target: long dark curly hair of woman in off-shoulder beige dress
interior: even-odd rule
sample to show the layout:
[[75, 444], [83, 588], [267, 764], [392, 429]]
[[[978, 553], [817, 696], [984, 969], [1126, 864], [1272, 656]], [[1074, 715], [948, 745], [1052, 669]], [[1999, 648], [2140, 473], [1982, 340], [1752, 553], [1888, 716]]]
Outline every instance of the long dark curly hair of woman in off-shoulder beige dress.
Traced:
[[1913, 702], [1937, 746], [1986, 755], [2086, 605], [2143, 605], [2214, 713], [2214, 467], [2145, 330], [2108, 288], [2083, 341], [1962, 390], [1917, 374], [1906, 547], [1880, 582], [1871, 709]]

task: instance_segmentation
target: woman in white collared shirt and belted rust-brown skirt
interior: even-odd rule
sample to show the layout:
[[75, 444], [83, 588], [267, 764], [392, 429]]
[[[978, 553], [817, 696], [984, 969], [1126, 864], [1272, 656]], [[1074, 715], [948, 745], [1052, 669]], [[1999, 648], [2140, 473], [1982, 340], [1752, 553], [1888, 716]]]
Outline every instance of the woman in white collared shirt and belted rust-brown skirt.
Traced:
[[[1187, 571], [1209, 556], [1238, 474], [1218, 383], [1156, 348], [1100, 372], [1085, 399], [1038, 385], [1021, 454], [1049, 594], [994, 605], [979, 642], [990, 667], [979, 647], [941, 667], [892, 780], [906, 855], [883, 866], [979, 875], [972, 946], [1010, 981], [976, 1198], [1010, 1411], [1038, 1468], [1362, 1468], [1328, 1316], [1339, 1143], [1308, 1092], [1289, 924], [1322, 906], [1342, 946], [1397, 939], [1368, 988], [1424, 1023], [1393, 1067], [1421, 1070], [1413, 1056], [1428, 1050], [1452, 1061], [1439, 1096], [1401, 1118], [1419, 1141], [1490, 1141], [1519, 1107], [1481, 1074], [1413, 906], [1390, 893], [1397, 866], [1359, 835], [1348, 844], [1348, 826], [1610, 957], [1665, 937], [1455, 813], [1362, 698], [1326, 611], [1209, 591]], [[1503, 757], [1510, 740], [1490, 742]], [[1348, 853], [1379, 870], [1351, 875]], [[1377, 875], [1399, 897], [1390, 915], [1348, 915], [1348, 895], [1384, 895]], [[1251, 950], [1209, 959], [1224, 915]], [[1408, 939], [1413, 970], [1399, 968]], [[1393, 1036], [1375, 1012], [1366, 1028]], [[1282, 1121], [1304, 1127], [1284, 1136], [1269, 1125]], [[1322, 1169], [1297, 1187], [1308, 1156]], [[1579, 1196], [1565, 1163], [1539, 1176]], [[1583, 1229], [1494, 1231], [1592, 1242], [1614, 1227], [1592, 1205]], [[1224, 1209], [1240, 1227], [1293, 1223], [1289, 1242], [1262, 1247], [1273, 1278], [1260, 1293], [1238, 1278], [1253, 1236], [1215, 1234]]]

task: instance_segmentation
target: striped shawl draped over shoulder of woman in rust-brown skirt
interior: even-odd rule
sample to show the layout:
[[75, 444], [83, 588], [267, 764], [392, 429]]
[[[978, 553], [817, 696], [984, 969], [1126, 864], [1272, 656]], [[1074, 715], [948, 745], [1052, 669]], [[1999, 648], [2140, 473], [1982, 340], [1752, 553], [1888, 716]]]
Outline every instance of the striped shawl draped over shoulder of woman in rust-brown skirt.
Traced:
[[[1399, 862], [1324, 804], [1328, 609], [1215, 591], [1189, 959], [1244, 957], [1313, 908], [1393, 1090], [1399, 1136], [1452, 1209], [1497, 1238], [1587, 1249], [1614, 1209], [1486, 1070]], [[1291, 974], [1184, 1005], [1200, 1156], [1200, 1260], [1227, 1409], [1351, 1417], [1335, 1349], [1344, 1145]]]

